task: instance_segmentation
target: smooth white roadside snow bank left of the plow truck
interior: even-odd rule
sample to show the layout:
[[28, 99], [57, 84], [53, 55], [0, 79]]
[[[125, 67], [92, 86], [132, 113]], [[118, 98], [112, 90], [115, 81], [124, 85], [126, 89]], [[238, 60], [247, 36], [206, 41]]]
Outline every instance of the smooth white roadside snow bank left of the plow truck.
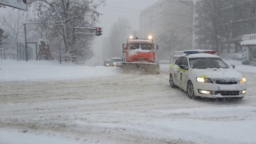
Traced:
[[52, 79], [95, 78], [121, 74], [119, 68], [60, 64], [48, 60], [0, 60], [0, 81], [31, 81]]

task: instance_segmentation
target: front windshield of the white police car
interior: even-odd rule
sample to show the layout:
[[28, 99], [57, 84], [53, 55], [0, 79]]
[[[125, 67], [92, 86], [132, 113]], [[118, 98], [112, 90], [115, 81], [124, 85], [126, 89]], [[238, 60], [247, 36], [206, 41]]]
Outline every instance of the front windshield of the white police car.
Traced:
[[220, 58], [189, 58], [190, 67], [192, 69], [207, 69], [207, 68], [229, 68]]

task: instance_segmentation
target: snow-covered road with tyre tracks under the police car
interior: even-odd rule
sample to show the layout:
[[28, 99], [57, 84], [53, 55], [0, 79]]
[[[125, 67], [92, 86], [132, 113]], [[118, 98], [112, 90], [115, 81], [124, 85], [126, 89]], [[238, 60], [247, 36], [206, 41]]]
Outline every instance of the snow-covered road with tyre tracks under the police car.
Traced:
[[158, 75], [0, 82], [0, 144], [256, 143], [256, 76], [242, 100], [190, 99]]

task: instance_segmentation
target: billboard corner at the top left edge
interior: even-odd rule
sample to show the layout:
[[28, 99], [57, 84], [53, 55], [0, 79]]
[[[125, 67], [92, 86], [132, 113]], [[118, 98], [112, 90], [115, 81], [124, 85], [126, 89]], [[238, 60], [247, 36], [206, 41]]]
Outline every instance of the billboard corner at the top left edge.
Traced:
[[0, 4], [21, 10], [27, 9], [27, 0], [0, 0]]

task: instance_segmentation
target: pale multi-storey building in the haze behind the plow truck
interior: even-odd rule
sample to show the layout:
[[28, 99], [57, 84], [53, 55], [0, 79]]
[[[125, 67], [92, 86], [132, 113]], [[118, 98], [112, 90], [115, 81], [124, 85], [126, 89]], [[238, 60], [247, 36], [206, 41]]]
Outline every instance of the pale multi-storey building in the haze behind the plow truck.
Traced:
[[[193, 0], [183, 0], [193, 3]], [[193, 7], [178, 0], [159, 0], [140, 12], [140, 33], [146, 38], [152, 35], [159, 49], [163, 33], [176, 33], [180, 44], [174, 50], [192, 49]]]

